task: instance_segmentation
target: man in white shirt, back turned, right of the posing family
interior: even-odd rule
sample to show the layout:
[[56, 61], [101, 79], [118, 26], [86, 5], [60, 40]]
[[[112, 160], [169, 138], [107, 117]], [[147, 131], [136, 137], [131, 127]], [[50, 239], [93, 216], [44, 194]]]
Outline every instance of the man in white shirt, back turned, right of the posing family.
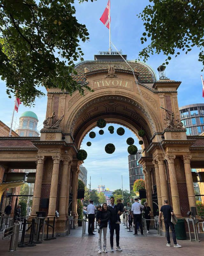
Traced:
[[132, 204], [132, 209], [131, 209], [132, 216], [133, 216], [134, 222], [135, 222], [134, 235], [137, 235], [137, 222], [139, 222], [139, 225], [140, 225], [141, 235], [144, 235], [143, 228], [142, 228], [142, 212], [141, 212], [141, 208], [143, 209], [144, 206], [142, 204], [138, 203], [138, 198], [135, 198], [134, 200], [135, 200], [135, 203]]

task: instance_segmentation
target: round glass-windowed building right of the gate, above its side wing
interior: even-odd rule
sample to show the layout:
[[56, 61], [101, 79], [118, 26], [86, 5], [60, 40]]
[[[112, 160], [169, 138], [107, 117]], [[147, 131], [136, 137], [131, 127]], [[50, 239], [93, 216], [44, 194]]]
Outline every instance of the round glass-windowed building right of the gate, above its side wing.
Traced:
[[204, 103], [183, 106], [179, 108], [179, 113], [187, 135], [204, 132]]

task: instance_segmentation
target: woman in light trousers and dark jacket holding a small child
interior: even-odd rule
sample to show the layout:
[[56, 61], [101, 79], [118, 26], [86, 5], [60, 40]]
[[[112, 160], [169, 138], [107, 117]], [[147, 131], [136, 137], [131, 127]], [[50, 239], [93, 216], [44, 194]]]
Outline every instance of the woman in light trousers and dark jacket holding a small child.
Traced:
[[107, 234], [107, 227], [108, 227], [108, 220], [110, 219], [110, 212], [108, 211], [108, 206], [106, 203], [102, 205], [100, 218], [98, 218], [99, 215], [97, 215], [96, 220], [98, 221], [98, 224], [100, 225], [100, 229], [98, 232], [98, 253], [101, 253], [101, 235], [103, 230], [103, 251], [107, 252], [106, 249], [106, 234]]

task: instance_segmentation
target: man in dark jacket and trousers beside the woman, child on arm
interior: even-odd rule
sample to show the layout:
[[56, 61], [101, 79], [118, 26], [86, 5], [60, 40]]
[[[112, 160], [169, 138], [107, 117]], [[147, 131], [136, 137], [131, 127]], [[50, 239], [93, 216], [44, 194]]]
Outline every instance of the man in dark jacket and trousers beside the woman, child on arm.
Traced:
[[114, 230], [116, 234], [116, 250], [122, 251], [122, 248], [119, 246], [119, 240], [120, 240], [120, 225], [116, 224], [117, 221], [117, 213], [121, 215], [120, 211], [117, 211], [116, 204], [114, 204], [115, 199], [112, 196], [110, 198], [111, 203], [108, 205], [108, 210], [110, 211], [110, 244], [111, 244], [111, 252], [114, 252], [113, 250], [113, 235]]

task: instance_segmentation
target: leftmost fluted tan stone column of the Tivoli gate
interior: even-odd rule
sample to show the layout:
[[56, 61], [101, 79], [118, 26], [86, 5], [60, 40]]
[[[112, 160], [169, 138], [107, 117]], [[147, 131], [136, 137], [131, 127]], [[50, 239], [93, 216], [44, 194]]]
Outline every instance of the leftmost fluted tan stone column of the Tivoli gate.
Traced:
[[44, 156], [36, 156], [36, 158], [37, 158], [37, 168], [36, 168], [36, 174], [35, 174], [35, 186], [33, 191], [33, 206], [32, 206], [32, 214], [31, 214], [32, 216], [36, 215], [36, 212], [39, 212], [43, 165], [44, 165]]

